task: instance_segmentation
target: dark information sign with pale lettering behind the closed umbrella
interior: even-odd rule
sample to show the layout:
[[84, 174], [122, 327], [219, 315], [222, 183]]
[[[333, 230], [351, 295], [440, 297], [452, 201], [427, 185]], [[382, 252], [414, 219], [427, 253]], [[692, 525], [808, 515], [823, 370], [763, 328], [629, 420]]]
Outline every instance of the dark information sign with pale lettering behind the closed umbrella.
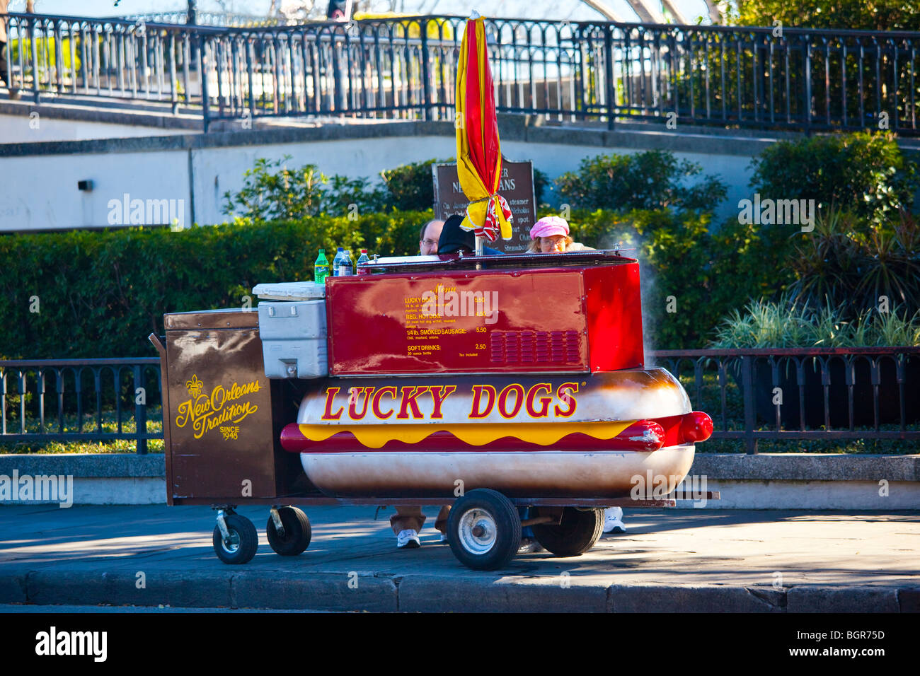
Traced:
[[[460, 189], [456, 165], [433, 165], [434, 174], [434, 216], [444, 220], [455, 213], [463, 215], [469, 201]], [[530, 244], [530, 228], [536, 221], [534, 198], [534, 163], [530, 160], [510, 162], [501, 159], [501, 181], [499, 194], [508, 201], [514, 214], [512, 238], [487, 243], [488, 246], [506, 253], [518, 253]]]

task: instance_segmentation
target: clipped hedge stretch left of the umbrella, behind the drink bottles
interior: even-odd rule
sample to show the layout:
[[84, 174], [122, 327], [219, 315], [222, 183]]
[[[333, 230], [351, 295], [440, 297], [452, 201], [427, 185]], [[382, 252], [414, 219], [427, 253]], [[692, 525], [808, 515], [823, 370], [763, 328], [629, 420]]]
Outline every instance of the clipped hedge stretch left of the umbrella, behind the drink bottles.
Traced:
[[[261, 282], [313, 278], [319, 247], [418, 251], [429, 212], [0, 237], [0, 358], [133, 357], [163, 314], [240, 307]], [[30, 312], [32, 297], [39, 312]], [[255, 304], [255, 299], [252, 300]]]

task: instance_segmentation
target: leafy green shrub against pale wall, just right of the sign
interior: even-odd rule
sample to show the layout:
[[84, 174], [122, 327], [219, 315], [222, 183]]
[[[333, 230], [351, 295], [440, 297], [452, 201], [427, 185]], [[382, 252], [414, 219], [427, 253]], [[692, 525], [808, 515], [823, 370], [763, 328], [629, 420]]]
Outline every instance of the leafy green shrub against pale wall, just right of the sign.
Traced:
[[556, 187], [562, 201], [574, 209], [712, 210], [725, 199], [727, 188], [712, 175], [685, 185], [701, 171], [702, 166], [661, 150], [597, 155], [582, 159], [577, 172], [557, 178]]

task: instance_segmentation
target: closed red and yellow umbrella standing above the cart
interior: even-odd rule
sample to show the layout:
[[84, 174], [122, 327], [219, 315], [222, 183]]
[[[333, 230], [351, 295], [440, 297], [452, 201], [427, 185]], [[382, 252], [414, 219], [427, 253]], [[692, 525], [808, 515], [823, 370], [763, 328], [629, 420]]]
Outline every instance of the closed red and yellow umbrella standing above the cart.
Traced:
[[469, 206], [460, 227], [494, 242], [512, 237], [512, 211], [499, 195], [501, 144], [482, 17], [466, 22], [457, 63], [457, 174]]

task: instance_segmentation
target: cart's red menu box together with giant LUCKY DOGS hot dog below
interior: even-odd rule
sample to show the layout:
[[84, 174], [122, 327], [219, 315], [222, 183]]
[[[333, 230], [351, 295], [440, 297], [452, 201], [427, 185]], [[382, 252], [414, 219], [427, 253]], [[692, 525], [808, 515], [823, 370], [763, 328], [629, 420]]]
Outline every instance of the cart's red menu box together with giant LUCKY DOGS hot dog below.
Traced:
[[642, 368], [638, 263], [514, 258], [327, 281], [331, 377], [281, 439], [316, 487], [620, 498], [637, 476], [667, 477], [664, 493], [684, 479], [712, 422], [671, 373]]

